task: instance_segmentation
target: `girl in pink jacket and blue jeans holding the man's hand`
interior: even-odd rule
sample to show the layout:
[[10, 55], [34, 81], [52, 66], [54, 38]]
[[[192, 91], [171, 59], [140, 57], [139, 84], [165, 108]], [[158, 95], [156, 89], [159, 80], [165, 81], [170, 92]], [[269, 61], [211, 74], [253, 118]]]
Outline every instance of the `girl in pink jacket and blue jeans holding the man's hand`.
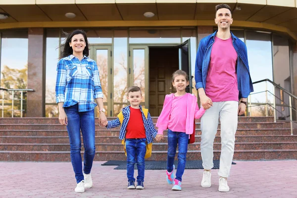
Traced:
[[[172, 74], [172, 85], [175, 94], [166, 95], [162, 112], [157, 120], [158, 135], [156, 140], [163, 139], [163, 131], [168, 129], [168, 152], [166, 178], [168, 184], [174, 184], [172, 190], [182, 190], [182, 176], [185, 171], [188, 141], [193, 133], [194, 119], [200, 118], [205, 110], [198, 107], [197, 98], [186, 93], [189, 85], [188, 75], [182, 70]], [[174, 157], [178, 144], [178, 166], [174, 178]]]

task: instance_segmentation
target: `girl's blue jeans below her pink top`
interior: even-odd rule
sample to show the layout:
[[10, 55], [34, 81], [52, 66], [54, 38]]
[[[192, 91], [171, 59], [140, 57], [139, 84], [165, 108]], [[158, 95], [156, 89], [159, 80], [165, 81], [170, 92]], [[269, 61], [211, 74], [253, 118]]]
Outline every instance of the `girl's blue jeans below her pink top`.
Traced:
[[168, 152], [167, 152], [167, 171], [173, 170], [174, 157], [178, 144], [178, 165], [176, 170], [176, 178], [182, 181], [182, 176], [186, 167], [187, 151], [188, 151], [189, 135], [183, 132], [174, 132], [168, 129]]

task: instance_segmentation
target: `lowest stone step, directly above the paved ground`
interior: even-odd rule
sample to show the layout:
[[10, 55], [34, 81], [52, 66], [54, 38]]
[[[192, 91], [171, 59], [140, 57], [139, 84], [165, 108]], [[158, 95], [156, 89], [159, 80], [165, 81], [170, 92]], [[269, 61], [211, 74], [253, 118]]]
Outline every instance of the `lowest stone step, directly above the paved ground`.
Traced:
[[[83, 152], [82, 152], [83, 153]], [[219, 159], [220, 150], [213, 151], [213, 159]], [[83, 154], [82, 154], [83, 155]], [[82, 156], [83, 157], [83, 156]], [[297, 149], [288, 150], [235, 150], [234, 160], [296, 159]], [[124, 151], [97, 151], [97, 161], [126, 160]], [[147, 160], [166, 160], [167, 151], [152, 151]], [[177, 155], [176, 155], [177, 159]], [[200, 160], [201, 153], [189, 150], [187, 160]], [[70, 161], [70, 151], [0, 151], [0, 161]]]

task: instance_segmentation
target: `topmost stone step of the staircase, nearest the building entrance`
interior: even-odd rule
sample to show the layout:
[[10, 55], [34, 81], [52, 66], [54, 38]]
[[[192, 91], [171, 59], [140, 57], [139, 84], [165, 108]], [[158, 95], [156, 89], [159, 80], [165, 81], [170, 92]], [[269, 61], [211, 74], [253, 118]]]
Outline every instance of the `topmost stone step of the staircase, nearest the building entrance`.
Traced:
[[[158, 117], [152, 117], [154, 123], [156, 123]], [[98, 118], [96, 118], [98, 120]], [[113, 120], [115, 117], [108, 117], [108, 120]], [[200, 122], [200, 119], [196, 119]], [[268, 117], [238, 117], [239, 122], [273, 122], [274, 118]], [[59, 124], [58, 118], [1, 118], [0, 124]]]

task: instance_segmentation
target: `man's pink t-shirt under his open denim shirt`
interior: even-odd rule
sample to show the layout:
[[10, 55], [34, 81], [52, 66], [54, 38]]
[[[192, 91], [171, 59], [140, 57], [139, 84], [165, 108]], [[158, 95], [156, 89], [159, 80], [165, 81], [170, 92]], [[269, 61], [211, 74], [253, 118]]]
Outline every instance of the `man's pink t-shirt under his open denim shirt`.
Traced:
[[232, 38], [214, 38], [206, 76], [205, 94], [213, 102], [238, 101], [237, 52]]

